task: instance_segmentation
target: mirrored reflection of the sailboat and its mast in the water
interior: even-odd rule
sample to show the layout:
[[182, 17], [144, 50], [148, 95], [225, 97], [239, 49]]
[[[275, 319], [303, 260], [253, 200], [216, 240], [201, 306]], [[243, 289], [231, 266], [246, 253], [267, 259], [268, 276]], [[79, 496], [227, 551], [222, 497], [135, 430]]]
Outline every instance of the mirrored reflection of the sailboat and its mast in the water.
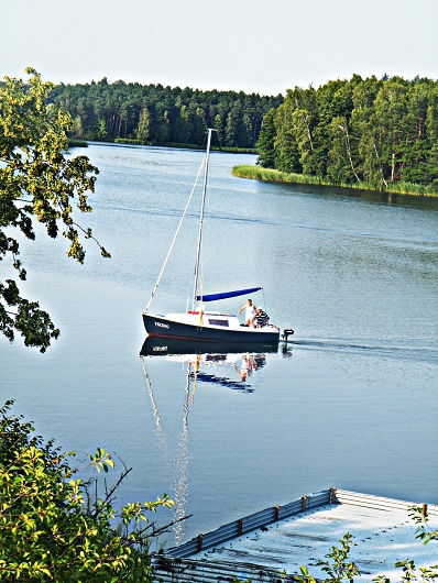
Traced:
[[[255, 352], [248, 352], [248, 344], [229, 344], [197, 341], [182, 341], [164, 338], [146, 338], [140, 352], [143, 372], [151, 399], [155, 419], [155, 436], [158, 449], [162, 450], [165, 464], [172, 464], [174, 451], [167, 444], [163, 430], [162, 418], [151, 377], [147, 371], [149, 363], [155, 359], [182, 362], [186, 366], [184, 382], [184, 402], [182, 411], [182, 429], [178, 436], [178, 446], [175, 463], [172, 464], [174, 487], [172, 497], [175, 501], [173, 520], [175, 542], [178, 544], [184, 538], [184, 520], [187, 517], [188, 496], [188, 465], [189, 465], [189, 431], [188, 410], [194, 403], [197, 385], [219, 385], [241, 393], [251, 394], [254, 388], [250, 385], [251, 375], [260, 371], [266, 363], [269, 353], [276, 353], [278, 346], [251, 345]], [[183, 387], [182, 387], [183, 388]]]

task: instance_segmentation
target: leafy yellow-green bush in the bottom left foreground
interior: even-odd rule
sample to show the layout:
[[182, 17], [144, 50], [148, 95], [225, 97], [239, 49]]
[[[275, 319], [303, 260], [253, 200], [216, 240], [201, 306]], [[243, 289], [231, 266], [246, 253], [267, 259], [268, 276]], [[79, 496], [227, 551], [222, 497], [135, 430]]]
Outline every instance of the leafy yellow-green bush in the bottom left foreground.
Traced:
[[[152, 581], [146, 513], [169, 508], [155, 502], [113, 505], [116, 486], [102, 499], [90, 482], [74, 480], [68, 458], [35, 436], [31, 424], [0, 409], [0, 579], [1, 581]], [[87, 464], [108, 472], [102, 449]], [[113, 526], [116, 525], [116, 526]]]

